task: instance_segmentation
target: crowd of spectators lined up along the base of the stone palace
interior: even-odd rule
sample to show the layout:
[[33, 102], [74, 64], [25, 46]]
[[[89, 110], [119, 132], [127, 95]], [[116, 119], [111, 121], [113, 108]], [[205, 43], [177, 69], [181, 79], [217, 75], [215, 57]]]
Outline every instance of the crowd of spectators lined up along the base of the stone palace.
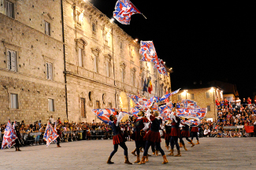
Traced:
[[[50, 124], [55, 126], [54, 118], [52, 116], [48, 120], [50, 120]], [[77, 124], [76, 122], [65, 121], [64, 123], [61, 123], [60, 118], [58, 118], [57, 124], [61, 124], [61, 142], [112, 138], [111, 126], [101, 122], [95, 123], [95, 121], [93, 121], [92, 123], [82, 122]], [[17, 126], [21, 135], [21, 146], [46, 144], [43, 140], [43, 134], [46, 130], [47, 124], [42, 124], [41, 120], [36, 121], [34, 124], [25, 124], [24, 120], [22, 120], [21, 123], [17, 122]], [[6, 124], [1, 124], [0, 142], [2, 142], [5, 128]]]

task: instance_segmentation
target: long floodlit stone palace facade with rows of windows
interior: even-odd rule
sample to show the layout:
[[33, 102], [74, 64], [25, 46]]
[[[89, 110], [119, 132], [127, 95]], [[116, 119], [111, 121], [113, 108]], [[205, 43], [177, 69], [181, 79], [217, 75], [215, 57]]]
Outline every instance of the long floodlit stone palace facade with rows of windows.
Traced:
[[91, 109], [130, 111], [126, 93], [171, 91], [170, 76], [140, 61], [139, 42], [87, 1], [0, 0], [0, 40], [0, 123], [91, 122]]

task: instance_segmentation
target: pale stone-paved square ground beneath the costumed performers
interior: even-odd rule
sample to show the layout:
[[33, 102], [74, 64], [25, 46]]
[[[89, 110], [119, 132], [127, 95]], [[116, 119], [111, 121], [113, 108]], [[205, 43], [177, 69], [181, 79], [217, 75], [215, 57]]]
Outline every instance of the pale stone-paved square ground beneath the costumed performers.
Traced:
[[[119, 147], [112, 161], [106, 164], [113, 150], [112, 140], [92, 140], [61, 143], [46, 146], [21, 147], [0, 150], [0, 169], [256, 169], [256, 138], [243, 139], [199, 139], [200, 144], [181, 149], [182, 157], [167, 157], [169, 163], [161, 164], [161, 155], [149, 157], [147, 164], [124, 164], [123, 149]], [[187, 142], [186, 142], [187, 143]], [[126, 142], [131, 162], [134, 142]], [[165, 154], [164, 140], [161, 142]], [[151, 154], [151, 150], [149, 152]], [[176, 150], [174, 150], [176, 153]]]

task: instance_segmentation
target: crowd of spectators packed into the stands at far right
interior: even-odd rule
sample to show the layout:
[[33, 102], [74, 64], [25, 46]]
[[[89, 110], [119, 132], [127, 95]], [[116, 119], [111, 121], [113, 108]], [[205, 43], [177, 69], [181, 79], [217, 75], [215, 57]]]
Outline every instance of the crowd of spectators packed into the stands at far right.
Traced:
[[[216, 100], [217, 121], [202, 120], [200, 136], [217, 138], [256, 137], [256, 109], [250, 98]], [[246, 126], [254, 126], [247, 133]]]

